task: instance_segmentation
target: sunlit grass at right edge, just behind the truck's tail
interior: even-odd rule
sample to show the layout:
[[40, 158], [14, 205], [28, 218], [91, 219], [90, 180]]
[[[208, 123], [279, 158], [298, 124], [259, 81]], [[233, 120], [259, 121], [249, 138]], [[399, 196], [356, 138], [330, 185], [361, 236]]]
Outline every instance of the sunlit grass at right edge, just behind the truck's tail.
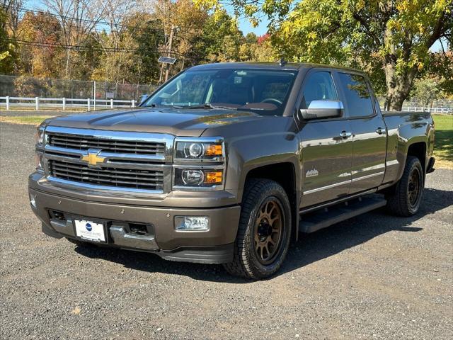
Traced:
[[435, 123], [436, 165], [453, 169], [453, 115], [432, 115]]

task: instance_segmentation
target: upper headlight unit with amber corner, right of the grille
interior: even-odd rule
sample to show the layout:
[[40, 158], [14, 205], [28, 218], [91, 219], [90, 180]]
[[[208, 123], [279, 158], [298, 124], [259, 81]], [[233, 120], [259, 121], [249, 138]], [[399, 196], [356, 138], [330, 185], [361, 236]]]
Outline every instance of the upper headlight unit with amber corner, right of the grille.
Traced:
[[209, 140], [180, 139], [176, 140], [176, 160], [192, 160], [222, 162], [224, 160], [224, 141], [222, 138]]

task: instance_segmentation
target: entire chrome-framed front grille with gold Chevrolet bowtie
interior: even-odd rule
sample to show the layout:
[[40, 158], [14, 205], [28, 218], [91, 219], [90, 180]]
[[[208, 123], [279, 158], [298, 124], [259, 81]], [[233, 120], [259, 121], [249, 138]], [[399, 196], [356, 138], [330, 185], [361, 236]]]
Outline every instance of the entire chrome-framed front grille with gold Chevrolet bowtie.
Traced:
[[[47, 127], [45, 172], [57, 186], [81, 191], [171, 191], [172, 135]], [[90, 164], [89, 156], [96, 156]]]

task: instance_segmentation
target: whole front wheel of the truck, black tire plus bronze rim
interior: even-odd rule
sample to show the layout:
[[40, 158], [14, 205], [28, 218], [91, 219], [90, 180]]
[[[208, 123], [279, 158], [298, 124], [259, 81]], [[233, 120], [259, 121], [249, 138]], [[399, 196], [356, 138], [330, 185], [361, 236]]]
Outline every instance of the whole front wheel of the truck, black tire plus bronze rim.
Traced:
[[[275, 222], [278, 213], [282, 217], [280, 222]], [[270, 217], [271, 222], [266, 222], [263, 216]], [[261, 222], [257, 217], [262, 219]], [[287, 255], [291, 225], [291, 208], [285, 189], [268, 179], [248, 180], [234, 244], [234, 258], [232, 262], [224, 264], [226, 271], [234, 276], [255, 280], [272, 276], [280, 269]], [[280, 231], [276, 232], [277, 229]], [[268, 243], [262, 246], [263, 242]]]

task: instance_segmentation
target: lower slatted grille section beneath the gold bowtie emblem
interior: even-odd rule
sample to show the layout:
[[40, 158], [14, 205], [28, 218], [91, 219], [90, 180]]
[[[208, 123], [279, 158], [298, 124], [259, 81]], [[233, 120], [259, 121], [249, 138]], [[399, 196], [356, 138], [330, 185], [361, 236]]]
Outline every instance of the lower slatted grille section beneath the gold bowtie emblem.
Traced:
[[91, 169], [84, 164], [50, 160], [51, 176], [57, 179], [142, 190], [164, 191], [164, 171], [102, 168]]

